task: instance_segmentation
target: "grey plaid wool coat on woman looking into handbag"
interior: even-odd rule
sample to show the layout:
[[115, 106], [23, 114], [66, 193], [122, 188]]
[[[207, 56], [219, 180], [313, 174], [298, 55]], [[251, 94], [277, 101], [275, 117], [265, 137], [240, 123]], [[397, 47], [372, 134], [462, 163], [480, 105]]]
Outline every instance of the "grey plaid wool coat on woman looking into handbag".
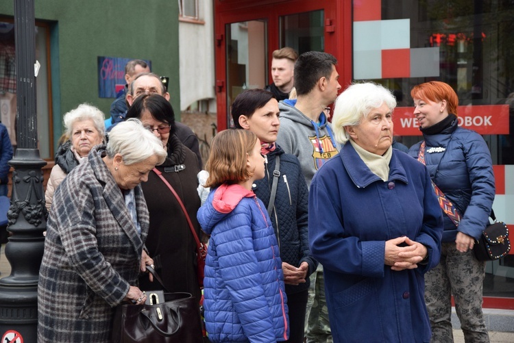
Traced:
[[149, 227], [140, 186], [141, 234], [95, 147], [53, 196], [38, 283], [38, 342], [110, 342], [114, 307], [130, 285]]

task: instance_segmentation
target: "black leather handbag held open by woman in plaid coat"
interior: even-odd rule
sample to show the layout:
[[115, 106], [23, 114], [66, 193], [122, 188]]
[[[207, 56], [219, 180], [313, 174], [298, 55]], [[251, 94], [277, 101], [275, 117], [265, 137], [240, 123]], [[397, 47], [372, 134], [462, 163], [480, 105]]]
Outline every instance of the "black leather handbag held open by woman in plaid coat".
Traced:
[[[161, 282], [154, 270], [152, 273]], [[112, 342], [204, 342], [198, 301], [189, 293], [147, 291], [144, 305], [123, 303], [117, 307]]]

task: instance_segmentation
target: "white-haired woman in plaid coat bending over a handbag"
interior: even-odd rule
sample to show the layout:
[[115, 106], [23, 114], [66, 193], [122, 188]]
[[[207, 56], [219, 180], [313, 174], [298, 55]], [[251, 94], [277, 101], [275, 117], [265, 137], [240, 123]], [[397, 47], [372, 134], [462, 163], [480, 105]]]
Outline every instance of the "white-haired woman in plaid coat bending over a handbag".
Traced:
[[110, 342], [114, 307], [143, 304], [136, 285], [149, 214], [140, 183], [162, 142], [136, 119], [114, 127], [53, 196], [38, 283], [38, 342]]

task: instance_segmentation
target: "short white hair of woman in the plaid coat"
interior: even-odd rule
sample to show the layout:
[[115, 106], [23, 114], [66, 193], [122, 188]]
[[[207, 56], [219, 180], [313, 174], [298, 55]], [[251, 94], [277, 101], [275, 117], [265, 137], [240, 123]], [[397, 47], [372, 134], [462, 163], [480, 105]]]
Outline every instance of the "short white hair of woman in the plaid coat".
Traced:
[[162, 164], [167, 156], [161, 140], [145, 129], [143, 123], [135, 118], [127, 119], [112, 127], [106, 152], [110, 158], [119, 153], [127, 166], [143, 162], [153, 155], [158, 157], [157, 164]]

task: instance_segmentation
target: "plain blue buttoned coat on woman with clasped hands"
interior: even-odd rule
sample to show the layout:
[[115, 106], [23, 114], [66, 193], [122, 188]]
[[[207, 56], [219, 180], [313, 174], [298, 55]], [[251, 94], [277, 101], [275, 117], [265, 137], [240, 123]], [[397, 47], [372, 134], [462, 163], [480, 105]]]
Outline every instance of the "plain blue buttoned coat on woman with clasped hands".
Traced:
[[[393, 150], [389, 180], [371, 173], [352, 144], [316, 173], [309, 241], [323, 265], [334, 342], [429, 342], [424, 273], [439, 263], [443, 219], [423, 164]], [[407, 236], [426, 264], [395, 271], [385, 242]]]

